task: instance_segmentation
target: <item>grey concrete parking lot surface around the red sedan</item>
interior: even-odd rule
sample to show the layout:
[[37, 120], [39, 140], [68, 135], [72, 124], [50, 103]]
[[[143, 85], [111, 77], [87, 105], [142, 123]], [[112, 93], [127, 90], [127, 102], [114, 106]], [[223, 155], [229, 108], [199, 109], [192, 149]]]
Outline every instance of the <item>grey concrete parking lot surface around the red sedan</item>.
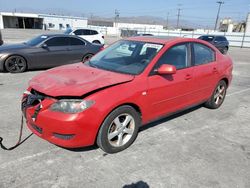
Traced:
[[[67, 150], [25, 127], [28, 139], [0, 149], [0, 187], [250, 187], [250, 49], [231, 48], [233, 83], [218, 110], [202, 106], [146, 125], [117, 154]], [[0, 73], [0, 136], [18, 139], [20, 99], [41, 71]]]

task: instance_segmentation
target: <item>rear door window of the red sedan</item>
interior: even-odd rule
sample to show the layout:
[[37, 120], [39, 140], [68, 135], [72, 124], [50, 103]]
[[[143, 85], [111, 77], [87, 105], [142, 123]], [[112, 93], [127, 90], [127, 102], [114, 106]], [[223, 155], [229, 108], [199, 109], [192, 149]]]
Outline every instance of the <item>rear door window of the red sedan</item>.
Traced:
[[193, 43], [193, 48], [195, 65], [202, 65], [215, 61], [215, 53], [211, 48], [198, 43]]

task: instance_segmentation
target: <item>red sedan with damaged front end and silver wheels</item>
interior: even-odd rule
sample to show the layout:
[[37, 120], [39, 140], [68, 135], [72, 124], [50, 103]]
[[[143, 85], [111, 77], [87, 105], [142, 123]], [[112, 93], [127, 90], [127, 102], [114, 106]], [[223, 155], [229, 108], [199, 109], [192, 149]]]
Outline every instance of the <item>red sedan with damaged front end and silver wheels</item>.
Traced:
[[232, 61], [198, 39], [133, 37], [88, 62], [34, 77], [22, 100], [30, 130], [67, 148], [129, 147], [151, 121], [204, 103], [216, 109], [232, 80]]

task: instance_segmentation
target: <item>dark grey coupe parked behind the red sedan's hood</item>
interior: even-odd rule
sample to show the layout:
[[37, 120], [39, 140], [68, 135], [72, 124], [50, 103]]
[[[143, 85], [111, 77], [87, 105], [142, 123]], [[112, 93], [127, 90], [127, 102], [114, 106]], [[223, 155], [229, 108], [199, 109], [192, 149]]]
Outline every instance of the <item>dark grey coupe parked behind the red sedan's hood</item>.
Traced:
[[40, 35], [21, 44], [0, 47], [0, 71], [20, 73], [28, 69], [86, 61], [102, 50], [103, 45], [92, 44], [77, 36]]

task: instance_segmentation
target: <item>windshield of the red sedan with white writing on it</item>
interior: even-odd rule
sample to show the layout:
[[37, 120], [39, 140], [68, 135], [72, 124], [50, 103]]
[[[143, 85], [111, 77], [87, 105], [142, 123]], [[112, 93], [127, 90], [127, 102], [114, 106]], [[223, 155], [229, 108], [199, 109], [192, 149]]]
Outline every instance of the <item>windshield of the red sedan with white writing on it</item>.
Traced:
[[89, 65], [124, 74], [140, 74], [163, 47], [162, 44], [118, 41], [94, 56]]

